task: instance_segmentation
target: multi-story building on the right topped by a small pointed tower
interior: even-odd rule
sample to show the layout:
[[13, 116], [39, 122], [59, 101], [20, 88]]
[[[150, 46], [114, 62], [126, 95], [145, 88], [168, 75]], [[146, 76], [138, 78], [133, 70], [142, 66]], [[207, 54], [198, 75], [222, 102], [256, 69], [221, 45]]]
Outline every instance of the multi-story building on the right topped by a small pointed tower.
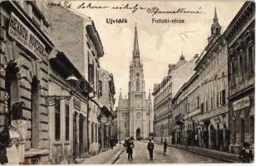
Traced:
[[208, 45], [194, 68], [199, 74], [201, 110], [201, 115], [194, 119], [194, 123], [202, 129], [205, 148], [227, 150], [229, 145], [227, 53], [215, 8]]

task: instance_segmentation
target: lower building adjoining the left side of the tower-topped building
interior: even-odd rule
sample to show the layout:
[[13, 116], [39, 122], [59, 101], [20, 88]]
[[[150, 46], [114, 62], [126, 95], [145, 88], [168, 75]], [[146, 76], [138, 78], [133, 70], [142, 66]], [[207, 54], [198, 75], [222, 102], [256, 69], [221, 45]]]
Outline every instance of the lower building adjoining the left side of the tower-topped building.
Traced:
[[[172, 99], [174, 116], [174, 144], [202, 145], [201, 132], [194, 123], [200, 114], [199, 76], [194, 73]], [[196, 135], [196, 136], [195, 136]]]

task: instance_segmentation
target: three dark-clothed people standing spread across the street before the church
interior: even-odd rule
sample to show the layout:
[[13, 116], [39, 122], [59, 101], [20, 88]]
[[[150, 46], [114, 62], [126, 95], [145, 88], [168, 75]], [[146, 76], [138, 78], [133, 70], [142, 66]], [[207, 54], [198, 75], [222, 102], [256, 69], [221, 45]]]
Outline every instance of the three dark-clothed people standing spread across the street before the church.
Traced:
[[[133, 148], [135, 147], [133, 137], [126, 139], [124, 146], [126, 147], [126, 153], [128, 154], [128, 159], [132, 159]], [[147, 144], [147, 149], [150, 154], [150, 159], [153, 159], [154, 148], [155, 148], [155, 144], [153, 143], [153, 141], [151, 139], [149, 139], [149, 143]], [[167, 141], [165, 139], [163, 155], [166, 155], [166, 149], [167, 149]]]

